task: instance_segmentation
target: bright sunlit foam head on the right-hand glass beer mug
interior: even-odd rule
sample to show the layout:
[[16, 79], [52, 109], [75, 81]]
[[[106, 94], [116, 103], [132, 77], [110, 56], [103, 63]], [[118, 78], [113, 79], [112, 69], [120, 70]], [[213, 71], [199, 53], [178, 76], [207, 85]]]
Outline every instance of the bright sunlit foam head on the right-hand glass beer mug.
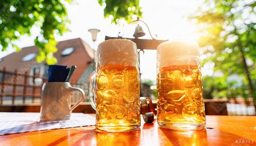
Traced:
[[157, 62], [160, 66], [198, 64], [194, 58], [199, 59], [198, 43], [195, 41], [167, 41], [157, 46]]

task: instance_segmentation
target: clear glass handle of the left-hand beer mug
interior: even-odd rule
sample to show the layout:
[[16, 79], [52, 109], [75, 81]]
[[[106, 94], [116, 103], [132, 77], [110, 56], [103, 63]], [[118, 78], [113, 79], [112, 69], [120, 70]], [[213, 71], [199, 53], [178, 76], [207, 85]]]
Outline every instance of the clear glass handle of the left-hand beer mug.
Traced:
[[95, 102], [96, 102], [96, 96], [95, 96], [95, 88], [96, 88], [96, 72], [92, 72], [89, 81], [88, 81], [88, 94], [89, 94], [89, 100], [91, 102], [91, 107], [96, 110]]

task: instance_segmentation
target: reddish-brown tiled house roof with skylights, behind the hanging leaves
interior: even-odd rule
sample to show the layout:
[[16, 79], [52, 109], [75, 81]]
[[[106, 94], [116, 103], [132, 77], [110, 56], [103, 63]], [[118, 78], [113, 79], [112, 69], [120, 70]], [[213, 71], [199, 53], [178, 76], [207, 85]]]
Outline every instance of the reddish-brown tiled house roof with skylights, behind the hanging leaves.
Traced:
[[[57, 58], [57, 64], [63, 64], [67, 66], [76, 65], [77, 68], [74, 71], [71, 81], [77, 82], [82, 73], [88, 66], [88, 62], [93, 60], [93, 49], [87, 45], [81, 38], [74, 38], [58, 42], [56, 45], [58, 51], [54, 54]], [[73, 47], [74, 51], [70, 55], [62, 56], [61, 53], [65, 48]], [[9, 54], [2, 58], [0, 61], [0, 70], [6, 67], [7, 71], [18, 70], [18, 73], [24, 73], [24, 70], [29, 69], [32, 64], [36, 64], [35, 59], [24, 62], [22, 58], [31, 53], [38, 53], [37, 46], [29, 46], [22, 48], [17, 53]], [[22, 72], [23, 71], [23, 72]]]

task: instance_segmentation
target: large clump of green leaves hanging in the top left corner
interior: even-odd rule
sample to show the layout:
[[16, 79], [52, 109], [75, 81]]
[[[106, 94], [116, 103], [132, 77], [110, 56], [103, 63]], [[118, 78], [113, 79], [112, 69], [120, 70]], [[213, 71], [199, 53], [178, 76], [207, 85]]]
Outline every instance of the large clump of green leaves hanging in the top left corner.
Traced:
[[[69, 1], [69, 0], [66, 0]], [[1, 0], [0, 2], [0, 45], [2, 51], [8, 47], [19, 48], [14, 44], [23, 35], [31, 35], [31, 28], [40, 27], [35, 45], [40, 50], [37, 61], [46, 60], [55, 64], [53, 53], [57, 51], [54, 34], [67, 31], [69, 22], [64, 4], [60, 0]]]

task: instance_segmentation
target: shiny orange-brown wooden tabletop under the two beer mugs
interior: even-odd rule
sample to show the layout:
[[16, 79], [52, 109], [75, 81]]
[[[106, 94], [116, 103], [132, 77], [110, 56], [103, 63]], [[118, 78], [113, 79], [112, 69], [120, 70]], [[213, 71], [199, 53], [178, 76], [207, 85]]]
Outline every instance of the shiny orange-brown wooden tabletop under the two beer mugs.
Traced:
[[[205, 129], [196, 131], [158, 128], [155, 120], [126, 133], [98, 133], [94, 126], [26, 132], [0, 136], [0, 146], [256, 146], [256, 117], [206, 116], [206, 122]], [[253, 144], [239, 144], [248, 140]]]

